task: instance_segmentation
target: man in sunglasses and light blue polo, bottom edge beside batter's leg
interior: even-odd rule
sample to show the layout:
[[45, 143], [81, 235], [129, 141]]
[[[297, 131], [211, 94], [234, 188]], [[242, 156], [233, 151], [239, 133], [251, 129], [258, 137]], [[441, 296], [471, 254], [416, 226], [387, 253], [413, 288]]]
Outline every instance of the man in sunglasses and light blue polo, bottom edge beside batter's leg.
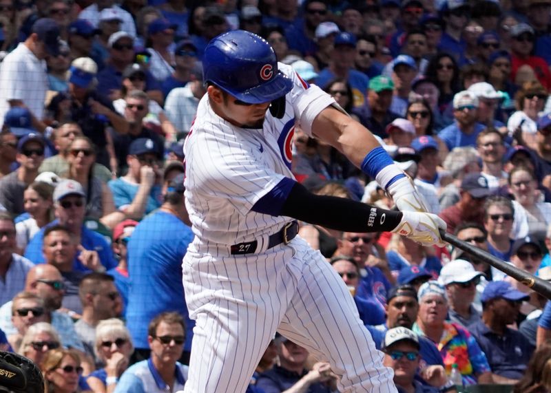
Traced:
[[185, 341], [185, 323], [178, 312], [157, 315], [147, 328], [149, 359], [128, 368], [118, 380], [115, 393], [177, 392], [187, 380], [187, 365], [178, 361]]

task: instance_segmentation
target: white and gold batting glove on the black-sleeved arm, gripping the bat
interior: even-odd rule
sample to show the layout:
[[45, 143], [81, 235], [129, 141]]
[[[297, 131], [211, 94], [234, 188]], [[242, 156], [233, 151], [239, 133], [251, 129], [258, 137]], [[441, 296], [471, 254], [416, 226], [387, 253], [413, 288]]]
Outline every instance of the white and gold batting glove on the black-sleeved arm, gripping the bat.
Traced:
[[433, 213], [402, 211], [402, 221], [393, 229], [393, 233], [408, 237], [423, 246], [445, 245], [440, 237], [440, 229], [446, 231], [446, 222]]

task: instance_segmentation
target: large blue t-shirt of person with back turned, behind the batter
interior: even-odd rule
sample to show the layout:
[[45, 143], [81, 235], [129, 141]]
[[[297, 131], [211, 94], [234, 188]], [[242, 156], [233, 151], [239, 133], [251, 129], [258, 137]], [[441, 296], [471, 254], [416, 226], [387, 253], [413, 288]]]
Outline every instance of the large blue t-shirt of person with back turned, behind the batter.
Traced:
[[185, 318], [186, 342], [191, 330], [182, 284], [182, 259], [193, 233], [173, 214], [156, 211], [142, 220], [127, 245], [130, 286], [126, 322], [136, 348], [149, 348], [147, 326], [160, 312], [176, 311]]

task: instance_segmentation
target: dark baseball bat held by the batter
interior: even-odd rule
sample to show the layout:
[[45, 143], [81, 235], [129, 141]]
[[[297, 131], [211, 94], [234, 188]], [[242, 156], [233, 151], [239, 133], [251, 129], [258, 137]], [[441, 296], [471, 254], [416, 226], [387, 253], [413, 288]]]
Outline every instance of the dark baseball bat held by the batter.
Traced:
[[535, 290], [540, 295], [551, 299], [551, 282], [536, 277], [525, 270], [517, 268], [517, 266], [508, 264], [498, 257], [495, 257], [494, 255], [484, 250], [481, 250], [480, 248], [477, 248], [470, 243], [457, 239], [456, 236], [450, 235], [450, 233], [446, 233], [446, 231], [440, 231], [440, 235], [442, 240], [448, 242], [449, 244], [452, 244], [453, 246], [456, 246], [457, 248], [461, 248], [461, 250], [469, 253], [470, 255], [474, 255], [481, 261], [486, 262], [491, 266], [494, 266], [506, 275], [509, 275], [510, 277], [516, 279], [521, 284], [524, 284], [528, 286], [528, 288]]

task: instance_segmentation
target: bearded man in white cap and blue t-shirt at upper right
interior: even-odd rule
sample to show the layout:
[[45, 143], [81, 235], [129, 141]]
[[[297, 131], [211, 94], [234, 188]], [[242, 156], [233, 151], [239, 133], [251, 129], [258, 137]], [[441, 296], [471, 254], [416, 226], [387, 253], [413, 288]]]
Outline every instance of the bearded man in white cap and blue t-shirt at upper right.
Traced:
[[477, 123], [478, 98], [464, 90], [453, 97], [453, 117], [455, 122], [438, 133], [449, 150], [454, 147], [476, 146], [477, 136], [484, 125]]

